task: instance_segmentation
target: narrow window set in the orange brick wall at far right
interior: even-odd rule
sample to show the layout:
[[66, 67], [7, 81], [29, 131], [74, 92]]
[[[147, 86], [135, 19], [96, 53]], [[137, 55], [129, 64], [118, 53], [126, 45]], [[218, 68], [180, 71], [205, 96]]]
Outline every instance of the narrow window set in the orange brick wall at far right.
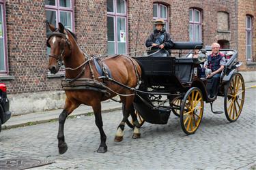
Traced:
[[246, 16], [246, 60], [251, 61], [252, 56], [252, 30], [253, 30], [253, 23], [252, 17]]

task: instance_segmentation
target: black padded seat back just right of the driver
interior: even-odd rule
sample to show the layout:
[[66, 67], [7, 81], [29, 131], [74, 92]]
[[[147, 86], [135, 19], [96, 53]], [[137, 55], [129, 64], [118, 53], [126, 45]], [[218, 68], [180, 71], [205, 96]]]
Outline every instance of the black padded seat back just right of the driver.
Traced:
[[194, 50], [203, 48], [203, 42], [177, 41], [173, 42], [172, 50]]

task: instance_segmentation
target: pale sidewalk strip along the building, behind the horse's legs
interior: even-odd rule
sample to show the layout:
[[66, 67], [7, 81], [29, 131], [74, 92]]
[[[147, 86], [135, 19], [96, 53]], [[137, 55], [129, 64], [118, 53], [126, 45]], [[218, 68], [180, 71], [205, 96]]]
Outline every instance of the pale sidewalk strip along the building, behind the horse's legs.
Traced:
[[[248, 82], [245, 84], [247, 88], [255, 88], [256, 82]], [[102, 113], [113, 112], [115, 110], [120, 110], [121, 112], [122, 104], [115, 101], [105, 101], [102, 102]], [[36, 112], [31, 114], [25, 114], [20, 116], [12, 116], [10, 120], [5, 122], [2, 125], [2, 129], [12, 129], [20, 126], [29, 126], [33, 124], [40, 124], [45, 122], [56, 121], [59, 118], [59, 114], [62, 112], [62, 109], [56, 109], [47, 112]], [[68, 118], [76, 118], [77, 116], [87, 116], [93, 114], [91, 106], [81, 105], [72, 112]]]

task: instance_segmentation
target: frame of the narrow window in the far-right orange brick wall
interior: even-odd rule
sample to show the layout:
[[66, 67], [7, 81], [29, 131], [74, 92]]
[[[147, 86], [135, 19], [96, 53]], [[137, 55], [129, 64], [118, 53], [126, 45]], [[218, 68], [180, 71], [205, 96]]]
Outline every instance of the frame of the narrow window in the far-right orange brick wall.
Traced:
[[[248, 18], [250, 18], [251, 20], [251, 27], [247, 27], [248, 25]], [[248, 33], [251, 33], [251, 41], [250, 41], [250, 44], [247, 44], [248, 42]], [[246, 39], [245, 39], [245, 51], [246, 51], [246, 61], [252, 61], [252, 56], [253, 56], [253, 17], [252, 16], [248, 16], [246, 15], [246, 21], [245, 21], [245, 36], [246, 36]], [[247, 50], [247, 47], [250, 46], [251, 47], [251, 56], [250, 58], [248, 58], [248, 50]]]

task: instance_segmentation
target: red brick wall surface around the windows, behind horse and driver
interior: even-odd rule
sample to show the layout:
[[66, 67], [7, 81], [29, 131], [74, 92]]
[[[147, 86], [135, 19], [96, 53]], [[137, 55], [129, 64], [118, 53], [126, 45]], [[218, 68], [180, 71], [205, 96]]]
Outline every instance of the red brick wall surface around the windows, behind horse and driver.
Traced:
[[[253, 0], [252, 0], [253, 1]], [[169, 33], [173, 41], [189, 41], [189, 8], [202, 14], [202, 40], [205, 45], [226, 39], [230, 48], [238, 49], [238, 3], [236, 0], [127, 0], [128, 52], [143, 49], [152, 32], [153, 3], [168, 6]], [[61, 90], [61, 78], [48, 78], [46, 54], [46, 20], [44, 0], [5, 0], [8, 38], [9, 75], [4, 80], [10, 93]], [[229, 30], [218, 30], [218, 12], [229, 15]], [[254, 13], [255, 14], [255, 13]], [[89, 54], [106, 54], [106, 1], [74, 1], [74, 32], [79, 44]], [[256, 31], [255, 31], [256, 32]], [[254, 34], [255, 35], [255, 34]], [[0, 75], [1, 78], [2, 75]]]

